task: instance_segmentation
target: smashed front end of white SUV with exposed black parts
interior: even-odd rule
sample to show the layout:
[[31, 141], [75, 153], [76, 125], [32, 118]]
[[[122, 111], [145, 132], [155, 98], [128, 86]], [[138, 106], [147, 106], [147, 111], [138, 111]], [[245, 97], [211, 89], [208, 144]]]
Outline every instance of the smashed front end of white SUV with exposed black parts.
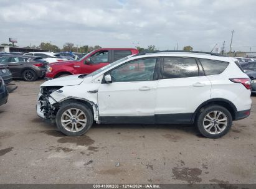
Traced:
[[37, 101], [37, 114], [50, 122], [55, 122], [55, 116], [59, 109], [59, 103], [50, 94], [60, 90], [63, 86], [42, 86]]

